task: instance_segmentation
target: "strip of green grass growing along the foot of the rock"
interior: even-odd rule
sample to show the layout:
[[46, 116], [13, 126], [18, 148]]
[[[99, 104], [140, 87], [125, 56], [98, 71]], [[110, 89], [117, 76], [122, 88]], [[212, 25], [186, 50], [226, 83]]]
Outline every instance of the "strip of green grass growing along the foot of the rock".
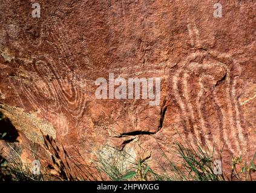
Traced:
[[[154, 172], [148, 164], [147, 159], [140, 159], [134, 151], [120, 151], [112, 147], [102, 147], [97, 152], [97, 161], [93, 165], [85, 164], [79, 151], [76, 156], [69, 156], [65, 152], [66, 165], [59, 172], [59, 180], [175, 180], [175, 181], [219, 181], [219, 180], [252, 180], [251, 173], [256, 171], [254, 159], [248, 165], [241, 165], [241, 156], [232, 160], [231, 177], [226, 174], [215, 174], [214, 160], [222, 162], [222, 151], [218, 156], [214, 148], [209, 150], [208, 147], [196, 147], [189, 142], [175, 143], [176, 154], [179, 162], [168, 160], [167, 168], [163, 172]], [[163, 153], [165, 154], [165, 153]], [[165, 157], [167, 157], [165, 155]], [[59, 157], [61, 160], [61, 157]], [[67, 161], [68, 160], [68, 161]], [[152, 161], [152, 160], [151, 160]], [[72, 163], [72, 164], [70, 164]], [[64, 166], [64, 164], [62, 164]], [[241, 171], [237, 166], [243, 166]], [[163, 168], [163, 166], [162, 166]], [[223, 171], [222, 171], [223, 172]], [[1, 172], [0, 172], [1, 173]], [[41, 174], [35, 175], [32, 172], [31, 165], [24, 163], [19, 154], [11, 160], [8, 160], [7, 166], [4, 167], [5, 176], [10, 176], [11, 180], [18, 181], [40, 181], [51, 180], [52, 176], [48, 175], [44, 168], [41, 168]], [[245, 174], [245, 177], [241, 175]], [[0, 175], [1, 179], [1, 175]]]

